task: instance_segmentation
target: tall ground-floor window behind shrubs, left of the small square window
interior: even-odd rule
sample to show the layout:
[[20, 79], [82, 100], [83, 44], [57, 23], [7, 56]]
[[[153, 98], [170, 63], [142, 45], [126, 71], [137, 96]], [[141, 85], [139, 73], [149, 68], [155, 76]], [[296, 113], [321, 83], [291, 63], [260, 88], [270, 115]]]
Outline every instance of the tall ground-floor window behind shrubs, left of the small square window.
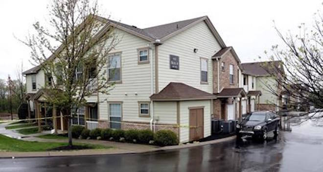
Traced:
[[109, 103], [110, 128], [121, 128], [121, 103]]

